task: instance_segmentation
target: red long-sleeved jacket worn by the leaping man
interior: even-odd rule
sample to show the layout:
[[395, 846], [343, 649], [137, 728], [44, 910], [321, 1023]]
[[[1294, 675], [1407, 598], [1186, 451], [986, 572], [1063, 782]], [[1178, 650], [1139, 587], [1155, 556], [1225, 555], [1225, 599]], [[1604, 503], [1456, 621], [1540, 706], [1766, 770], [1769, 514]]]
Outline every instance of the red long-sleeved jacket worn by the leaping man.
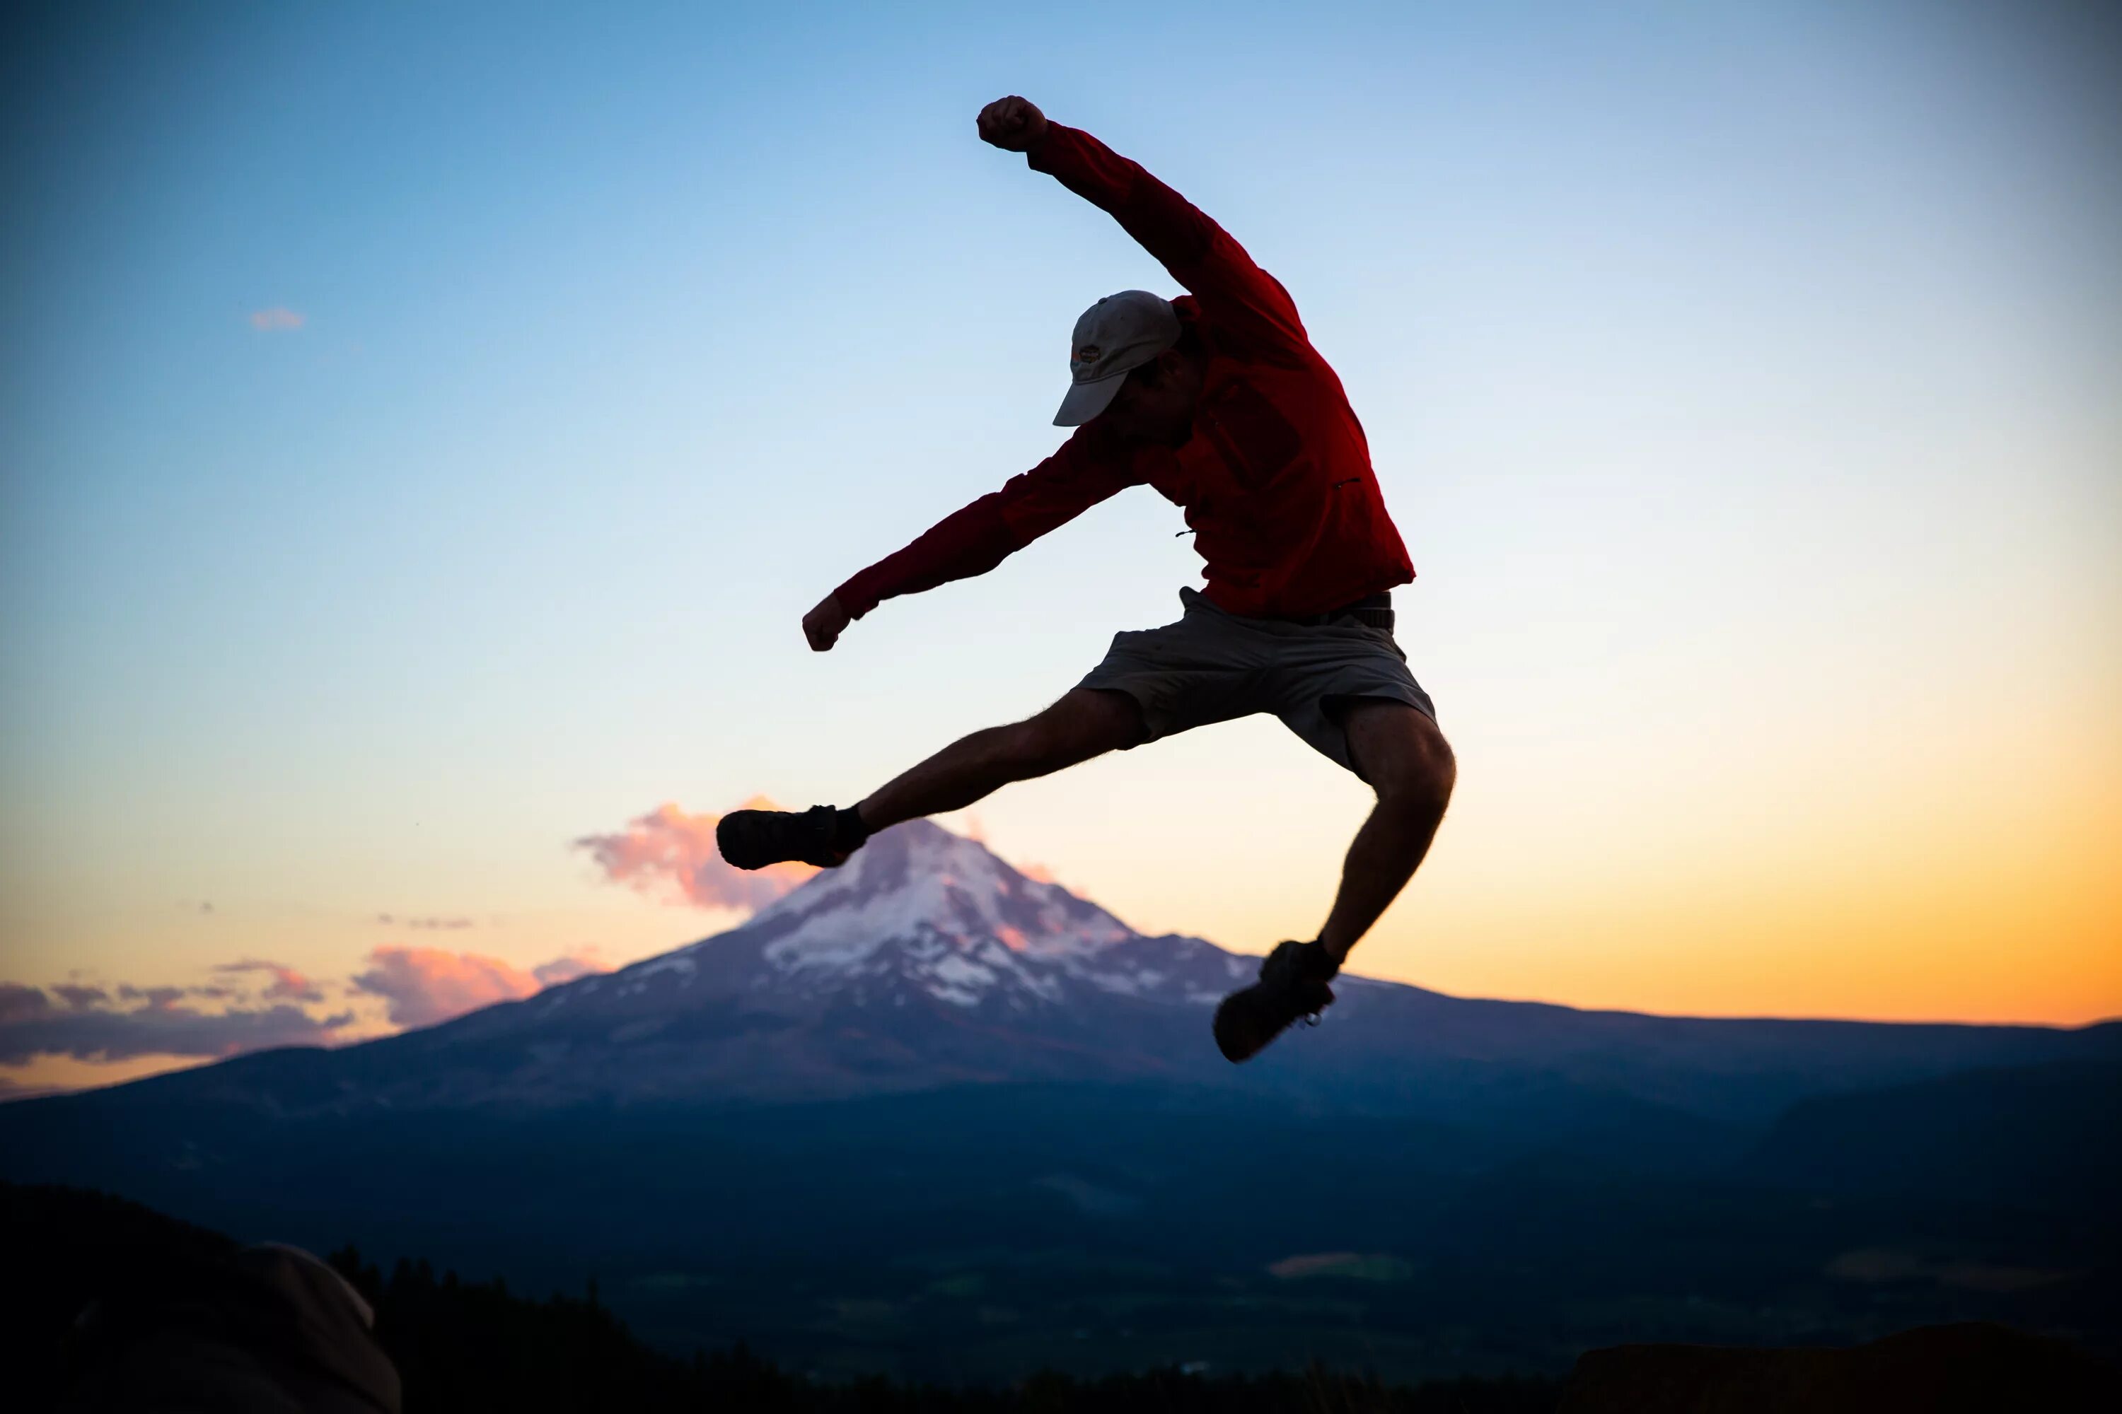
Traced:
[[1123, 443], [1091, 420], [999, 492], [849, 579], [836, 591], [840, 606], [859, 619], [895, 594], [985, 575], [1144, 481], [1186, 509], [1207, 562], [1203, 594], [1218, 608], [1307, 615], [1413, 579], [1362, 424], [1282, 282], [1186, 197], [1091, 134], [1048, 123], [1027, 161], [1112, 212], [1193, 290], [1171, 301], [1210, 352], [1193, 437], [1178, 449]]

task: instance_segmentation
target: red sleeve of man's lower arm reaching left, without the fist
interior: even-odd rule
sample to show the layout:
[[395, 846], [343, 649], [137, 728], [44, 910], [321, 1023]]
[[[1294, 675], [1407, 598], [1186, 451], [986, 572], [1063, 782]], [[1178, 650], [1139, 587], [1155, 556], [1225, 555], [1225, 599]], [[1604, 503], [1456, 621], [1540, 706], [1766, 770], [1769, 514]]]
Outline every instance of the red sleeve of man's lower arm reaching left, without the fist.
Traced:
[[855, 619], [900, 594], [987, 575], [1014, 551], [1133, 483], [1127, 454], [1078, 430], [1050, 458], [1010, 477], [999, 492], [936, 522], [902, 551], [885, 555], [834, 589]]

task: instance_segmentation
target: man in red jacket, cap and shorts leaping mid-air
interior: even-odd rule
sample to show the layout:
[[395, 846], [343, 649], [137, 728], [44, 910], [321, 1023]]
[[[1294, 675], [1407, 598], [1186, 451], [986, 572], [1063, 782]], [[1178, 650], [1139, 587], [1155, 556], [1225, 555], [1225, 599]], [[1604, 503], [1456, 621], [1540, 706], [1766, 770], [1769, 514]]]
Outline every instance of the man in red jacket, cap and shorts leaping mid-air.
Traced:
[[1084, 310], [1055, 416], [1078, 430], [828, 594], [804, 636], [823, 653], [879, 602], [985, 575], [1144, 481], [1186, 509], [1207, 583], [1180, 589], [1178, 623], [1116, 634], [1106, 661], [1038, 717], [974, 731], [845, 810], [736, 810], [715, 842], [738, 869], [832, 869], [879, 829], [963, 810], [1012, 780], [1273, 712], [1377, 806], [1320, 935], [1280, 943], [1260, 979], [1216, 1009], [1218, 1049], [1246, 1060], [1333, 1003], [1326, 984], [1413, 876], [1451, 799], [1451, 748], [1392, 638], [1390, 589], [1415, 572], [1362, 424], [1282, 282], [1186, 197], [1023, 98], [982, 108], [978, 129], [1110, 212], [1190, 295], [1123, 290]]

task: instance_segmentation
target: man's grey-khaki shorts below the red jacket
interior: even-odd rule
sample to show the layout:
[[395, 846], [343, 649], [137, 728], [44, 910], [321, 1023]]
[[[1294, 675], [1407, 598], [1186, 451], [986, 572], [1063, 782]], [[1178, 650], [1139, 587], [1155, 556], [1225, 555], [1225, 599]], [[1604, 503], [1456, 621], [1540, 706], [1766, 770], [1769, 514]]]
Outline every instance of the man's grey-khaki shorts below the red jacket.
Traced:
[[1390, 630], [1354, 619], [1326, 625], [1248, 619], [1216, 608], [1195, 589], [1180, 589], [1180, 604], [1186, 615], [1178, 623], [1114, 634], [1106, 661], [1078, 683], [1140, 702], [1150, 729], [1144, 742], [1273, 712], [1314, 750], [1356, 772], [1339, 719], [1352, 697], [1405, 702], [1437, 721]]

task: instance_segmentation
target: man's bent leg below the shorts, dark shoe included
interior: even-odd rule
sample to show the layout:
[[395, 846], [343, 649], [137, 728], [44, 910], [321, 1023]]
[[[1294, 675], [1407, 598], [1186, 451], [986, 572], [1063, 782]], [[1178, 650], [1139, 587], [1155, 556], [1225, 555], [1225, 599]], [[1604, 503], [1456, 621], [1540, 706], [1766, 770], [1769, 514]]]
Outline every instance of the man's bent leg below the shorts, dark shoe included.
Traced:
[[1290, 1022], [1333, 1003], [1326, 984], [1415, 873], [1451, 801], [1458, 767], [1428, 714], [1405, 702], [1358, 697], [1341, 714], [1341, 729], [1347, 761], [1377, 791], [1377, 806], [1347, 848], [1341, 892], [1318, 941], [1280, 943], [1260, 962], [1260, 979], [1216, 1007], [1216, 1047], [1227, 1060], [1250, 1060]]

